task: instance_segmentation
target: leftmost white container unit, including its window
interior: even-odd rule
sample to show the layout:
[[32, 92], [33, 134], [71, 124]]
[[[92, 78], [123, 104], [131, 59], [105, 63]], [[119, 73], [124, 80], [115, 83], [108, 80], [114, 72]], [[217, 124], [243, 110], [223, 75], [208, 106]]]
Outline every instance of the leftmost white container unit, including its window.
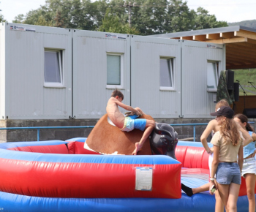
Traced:
[[0, 118], [72, 114], [72, 31], [1, 23]]

